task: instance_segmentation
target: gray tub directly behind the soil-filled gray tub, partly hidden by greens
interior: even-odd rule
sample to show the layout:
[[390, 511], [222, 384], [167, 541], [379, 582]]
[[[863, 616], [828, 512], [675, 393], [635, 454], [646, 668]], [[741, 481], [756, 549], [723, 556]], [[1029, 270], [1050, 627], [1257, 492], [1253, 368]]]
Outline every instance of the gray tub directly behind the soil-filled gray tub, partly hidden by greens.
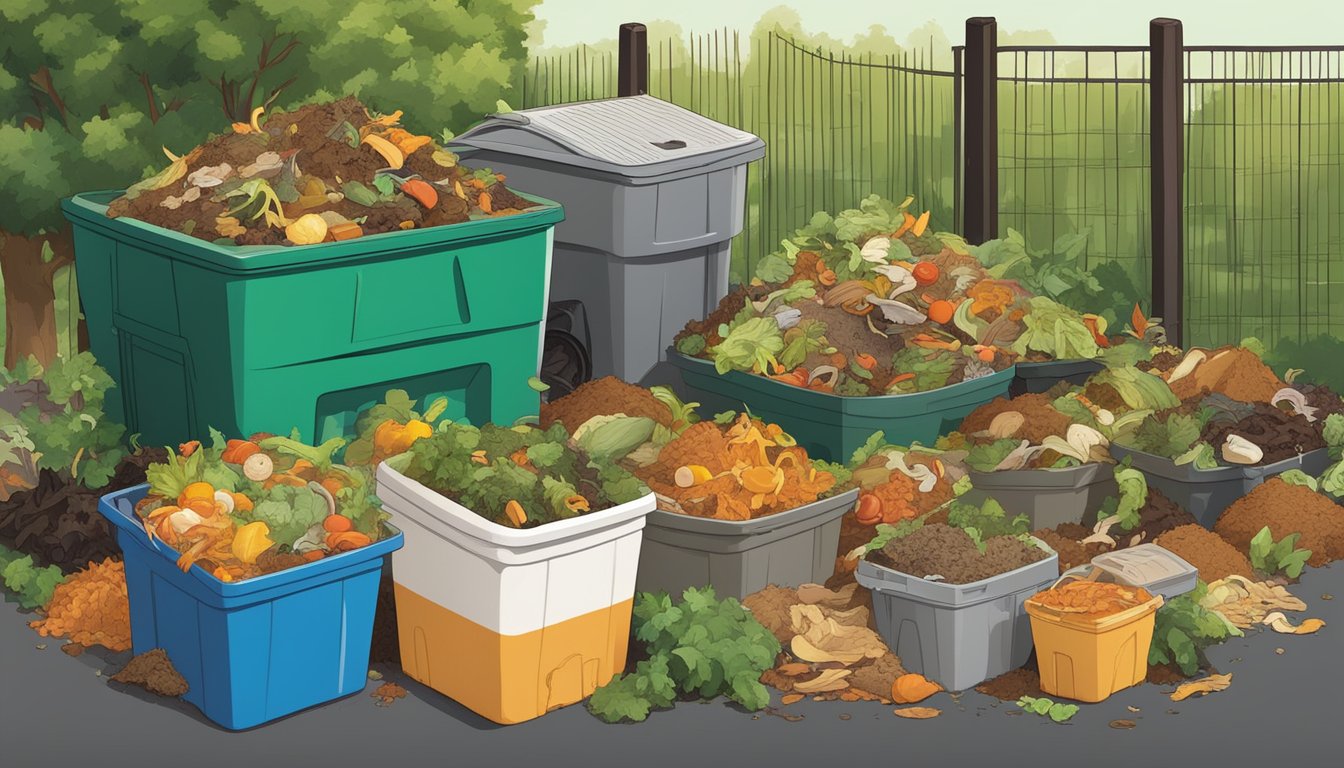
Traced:
[[1009, 516], [1027, 515], [1031, 530], [1060, 523], [1095, 522], [1097, 510], [1116, 495], [1110, 464], [1083, 464], [1064, 469], [970, 471], [969, 500], [993, 498]]

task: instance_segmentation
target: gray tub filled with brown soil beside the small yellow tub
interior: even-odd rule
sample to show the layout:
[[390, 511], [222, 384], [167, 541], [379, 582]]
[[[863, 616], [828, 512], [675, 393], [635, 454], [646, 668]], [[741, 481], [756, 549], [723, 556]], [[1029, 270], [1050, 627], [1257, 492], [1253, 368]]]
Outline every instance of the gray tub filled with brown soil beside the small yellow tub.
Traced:
[[943, 584], [859, 561], [878, 633], [913, 673], [960, 691], [1016, 670], [1031, 656], [1023, 604], [1059, 577], [1059, 555], [972, 584]]

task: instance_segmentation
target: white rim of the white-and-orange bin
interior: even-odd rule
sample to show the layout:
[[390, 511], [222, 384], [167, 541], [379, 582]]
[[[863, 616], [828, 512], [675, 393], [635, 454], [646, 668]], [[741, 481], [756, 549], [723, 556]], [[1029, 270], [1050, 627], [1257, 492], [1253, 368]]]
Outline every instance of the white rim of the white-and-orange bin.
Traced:
[[[383, 487], [384, 484], [394, 488], [398, 494], [411, 496], [410, 500], [413, 503], [410, 507], [398, 508], [396, 511], [396, 514], [406, 515], [411, 522], [435, 533], [442, 531], [442, 529], [452, 529], [454, 533], [478, 542], [511, 550], [555, 545], [636, 519], [640, 519], [642, 525], [642, 518], [652, 512], [657, 504], [657, 499], [649, 491], [633, 502], [625, 502], [624, 504], [616, 504], [566, 521], [556, 521], [534, 529], [511, 529], [488, 521], [418, 480], [402, 475], [388, 467], [387, 461], [378, 465], [378, 487]], [[437, 510], [442, 514], [422, 516], [425, 510]]]

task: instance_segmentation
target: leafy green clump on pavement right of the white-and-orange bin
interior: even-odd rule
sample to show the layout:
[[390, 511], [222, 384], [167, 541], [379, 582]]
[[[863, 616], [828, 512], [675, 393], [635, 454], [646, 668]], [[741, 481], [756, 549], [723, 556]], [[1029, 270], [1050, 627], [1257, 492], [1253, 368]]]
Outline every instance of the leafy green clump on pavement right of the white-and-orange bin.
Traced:
[[774, 666], [780, 642], [735, 599], [712, 586], [636, 597], [632, 631], [648, 659], [634, 673], [593, 691], [589, 712], [606, 722], [645, 720], [679, 698], [726, 695], [746, 709], [770, 703], [761, 675]]

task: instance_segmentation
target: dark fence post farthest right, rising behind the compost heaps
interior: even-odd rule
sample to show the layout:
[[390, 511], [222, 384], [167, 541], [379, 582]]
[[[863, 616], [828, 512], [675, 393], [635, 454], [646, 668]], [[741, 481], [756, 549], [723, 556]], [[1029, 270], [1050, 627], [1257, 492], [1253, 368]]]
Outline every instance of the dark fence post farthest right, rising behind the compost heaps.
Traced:
[[1152, 73], [1152, 207], [1153, 207], [1153, 307], [1163, 319], [1167, 339], [1184, 342], [1185, 227], [1183, 215], [1185, 172], [1185, 48], [1176, 19], [1148, 24]]

